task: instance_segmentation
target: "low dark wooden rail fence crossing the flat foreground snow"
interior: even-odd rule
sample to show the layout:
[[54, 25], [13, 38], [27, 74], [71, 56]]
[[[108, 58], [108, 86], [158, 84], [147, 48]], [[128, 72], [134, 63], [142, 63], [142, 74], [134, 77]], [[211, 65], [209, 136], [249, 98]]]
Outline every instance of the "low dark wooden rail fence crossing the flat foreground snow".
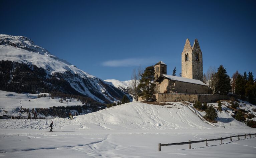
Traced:
[[234, 135], [234, 136], [229, 136], [229, 137], [224, 137], [224, 138], [217, 138], [217, 139], [205, 139], [205, 140], [196, 140], [196, 141], [188, 141], [188, 142], [181, 142], [181, 143], [170, 143], [170, 144], [161, 144], [161, 143], [158, 143], [158, 151], [161, 151], [161, 146], [170, 146], [170, 145], [184, 145], [184, 144], [189, 144], [189, 149], [191, 149], [191, 144], [193, 143], [200, 143], [200, 142], [205, 142], [205, 145], [208, 146], [208, 141], [216, 141], [216, 140], [220, 140], [221, 141], [221, 144], [222, 144], [222, 140], [224, 139], [228, 139], [230, 138], [230, 141], [232, 141], [232, 138], [233, 137], [238, 137], [238, 140], [240, 140], [240, 137], [243, 137], [244, 136], [244, 139], [246, 139], [246, 136], [248, 136], [251, 138], [251, 135], [255, 135], [256, 137], [256, 133], [255, 134], [244, 134], [244, 135]]

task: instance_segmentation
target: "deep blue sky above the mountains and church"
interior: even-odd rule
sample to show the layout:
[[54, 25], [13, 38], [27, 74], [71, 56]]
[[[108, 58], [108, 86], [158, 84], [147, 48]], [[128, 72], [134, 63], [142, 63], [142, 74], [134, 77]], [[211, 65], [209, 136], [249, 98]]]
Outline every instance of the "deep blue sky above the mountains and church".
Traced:
[[129, 80], [134, 68], [177, 67], [197, 38], [204, 73], [221, 64], [256, 76], [256, 1], [0, 0], [0, 34], [26, 36], [101, 79]]

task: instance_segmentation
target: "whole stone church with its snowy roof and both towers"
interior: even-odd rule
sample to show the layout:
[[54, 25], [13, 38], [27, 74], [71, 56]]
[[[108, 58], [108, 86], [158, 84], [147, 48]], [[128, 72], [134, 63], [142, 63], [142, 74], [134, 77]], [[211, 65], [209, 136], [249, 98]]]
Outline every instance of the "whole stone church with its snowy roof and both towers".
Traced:
[[167, 75], [167, 65], [160, 61], [155, 65], [155, 83], [159, 93], [211, 94], [203, 82], [203, 54], [195, 39], [191, 47], [186, 40], [181, 54], [181, 76]]

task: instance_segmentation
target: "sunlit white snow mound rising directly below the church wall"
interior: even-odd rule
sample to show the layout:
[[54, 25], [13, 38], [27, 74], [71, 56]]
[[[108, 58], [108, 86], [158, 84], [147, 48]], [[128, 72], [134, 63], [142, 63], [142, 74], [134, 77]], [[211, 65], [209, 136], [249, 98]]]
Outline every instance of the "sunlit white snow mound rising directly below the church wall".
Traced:
[[77, 116], [83, 124], [97, 124], [106, 129], [211, 129], [189, 108], [173, 105], [125, 103], [97, 112]]

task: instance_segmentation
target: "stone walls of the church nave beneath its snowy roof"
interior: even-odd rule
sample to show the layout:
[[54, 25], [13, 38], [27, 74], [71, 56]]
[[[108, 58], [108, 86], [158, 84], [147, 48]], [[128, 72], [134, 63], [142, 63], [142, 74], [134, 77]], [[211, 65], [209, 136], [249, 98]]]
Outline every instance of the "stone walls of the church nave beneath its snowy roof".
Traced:
[[178, 80], [161, 79], [159, 81], [160, 93], [189, 93], [189, 94], [209, 94], [210, 89], [206, 85], [182, 82]]

